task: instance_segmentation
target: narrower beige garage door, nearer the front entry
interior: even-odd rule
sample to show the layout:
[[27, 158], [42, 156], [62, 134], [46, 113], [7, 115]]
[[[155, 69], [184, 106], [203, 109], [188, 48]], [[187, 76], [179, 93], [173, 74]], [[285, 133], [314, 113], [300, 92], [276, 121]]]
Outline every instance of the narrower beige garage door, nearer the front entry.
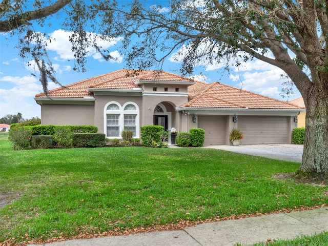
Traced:
[[204, 145], [224, 145], [226, 116], [198, 115], [198, 127], [205, 130]]

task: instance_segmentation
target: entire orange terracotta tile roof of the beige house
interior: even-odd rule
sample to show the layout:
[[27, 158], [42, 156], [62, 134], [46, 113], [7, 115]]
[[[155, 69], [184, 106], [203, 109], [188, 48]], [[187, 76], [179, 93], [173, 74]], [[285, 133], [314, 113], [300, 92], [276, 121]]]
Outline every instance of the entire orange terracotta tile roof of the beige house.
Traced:
[[[121, 69], [96, 77], [78, 81], [65, 87], [59, 87], [48, 92], [50, 98], [83, 98], [92, 96], [88, 91], [94, 89], [126, 89], [141, 88], [136, 85], [138, 80], [158, 81], [194, 81], [177, 74], [165, 71], [136, 71]], [[249, 108], [249, 109], [300, 109], [301, 107], [286, 101], [259, 95], [250, 91], [241, 90], [218, 82], [207, 84], [194, 81], [194, 85], [188, 87], [188, 103], [180, 108]], [[35, 97], [47, 97], [45, 93]]]

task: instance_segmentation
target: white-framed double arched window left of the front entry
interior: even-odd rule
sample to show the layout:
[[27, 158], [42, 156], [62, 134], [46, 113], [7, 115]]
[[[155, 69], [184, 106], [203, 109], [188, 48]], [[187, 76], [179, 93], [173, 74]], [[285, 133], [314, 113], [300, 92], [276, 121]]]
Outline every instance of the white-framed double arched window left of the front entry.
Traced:
[[133, 137], [139, 137], [139, 108], [131, 101], [123, 106], [116, 101], [110, 101], [104, 108], [106, 137], [120, 138], [123, 130], [130, 130]]

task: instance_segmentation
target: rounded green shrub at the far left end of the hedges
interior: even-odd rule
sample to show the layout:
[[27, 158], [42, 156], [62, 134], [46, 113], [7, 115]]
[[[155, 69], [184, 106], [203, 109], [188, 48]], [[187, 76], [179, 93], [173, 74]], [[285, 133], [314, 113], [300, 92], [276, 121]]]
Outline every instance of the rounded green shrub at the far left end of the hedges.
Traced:
[[31, 148], [32, 131], [24, 127], [10, 131], [10, 140], [14, 150], [27, 150]]

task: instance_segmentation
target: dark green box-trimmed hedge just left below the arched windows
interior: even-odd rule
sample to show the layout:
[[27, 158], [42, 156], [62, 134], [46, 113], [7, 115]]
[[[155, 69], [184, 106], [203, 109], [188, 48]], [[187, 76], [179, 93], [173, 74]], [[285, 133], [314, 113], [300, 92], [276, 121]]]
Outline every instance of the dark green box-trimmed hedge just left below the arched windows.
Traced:
[[104, 133], [74, 133], [72, 145], [74, 147], [104, 147], [106, 144]]

